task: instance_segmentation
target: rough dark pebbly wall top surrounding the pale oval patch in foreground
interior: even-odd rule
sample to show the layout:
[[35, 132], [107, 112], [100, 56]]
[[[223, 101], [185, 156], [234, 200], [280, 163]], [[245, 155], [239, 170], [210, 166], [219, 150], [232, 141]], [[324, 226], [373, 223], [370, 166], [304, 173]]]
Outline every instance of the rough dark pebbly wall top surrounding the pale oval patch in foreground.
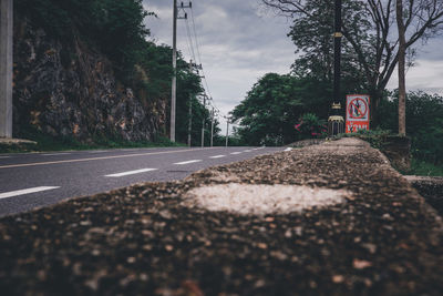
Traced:
[[[346, 190], [272, 215], [183, 205], [196, 187]], [[364, 142], [343, 139], [0, 220], [3, 295], [441, 295], [443, 227]]]

